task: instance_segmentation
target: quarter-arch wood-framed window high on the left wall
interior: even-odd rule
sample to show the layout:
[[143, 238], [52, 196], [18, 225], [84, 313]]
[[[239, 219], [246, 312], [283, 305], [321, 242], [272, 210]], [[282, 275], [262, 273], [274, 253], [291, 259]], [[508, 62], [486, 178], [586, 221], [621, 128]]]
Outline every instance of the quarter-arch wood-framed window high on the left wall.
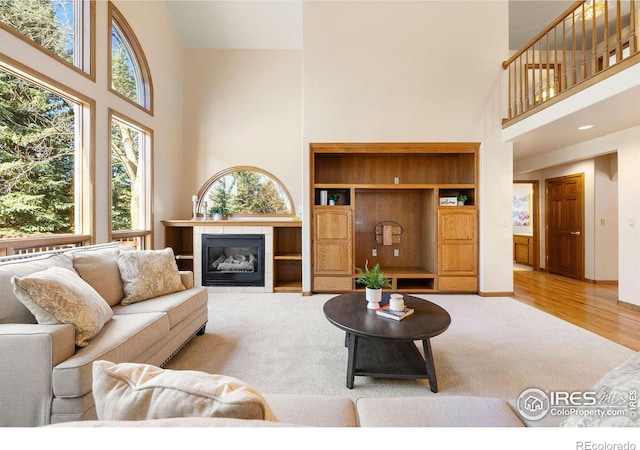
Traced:
[[119, 96], [153, 112], [151, 75], [142, 48], [118, 10], [111, 17], [109, 86]]

